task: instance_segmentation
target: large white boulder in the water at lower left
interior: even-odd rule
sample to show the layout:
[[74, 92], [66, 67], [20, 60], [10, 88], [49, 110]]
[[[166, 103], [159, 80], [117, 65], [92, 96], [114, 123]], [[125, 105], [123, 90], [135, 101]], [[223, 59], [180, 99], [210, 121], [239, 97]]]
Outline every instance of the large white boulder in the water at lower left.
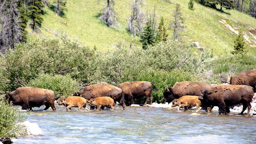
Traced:
[[39, 128], [39, 126], [37, 125], [37, 123], [31, 123], [29, 121], [25, 121], [22, 123], [18, 123], [22, 126], [25, 127], [26, 129], [26, 133], [28, 135], [43, 135], [42, 130]]

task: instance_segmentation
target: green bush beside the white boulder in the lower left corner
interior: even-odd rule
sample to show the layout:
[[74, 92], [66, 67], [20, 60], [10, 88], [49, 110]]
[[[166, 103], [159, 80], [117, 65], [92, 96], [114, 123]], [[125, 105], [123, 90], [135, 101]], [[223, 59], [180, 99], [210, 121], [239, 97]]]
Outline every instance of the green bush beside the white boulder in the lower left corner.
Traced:
[[0, 141], [3, 143], [11, 143], [11, 138], [17, 138], [23, 135], [20, 131], [18, 122], [25, 119], [24, 115], [17, 113], [15, 108], [11, 107], [5, 100], [0, 100]]

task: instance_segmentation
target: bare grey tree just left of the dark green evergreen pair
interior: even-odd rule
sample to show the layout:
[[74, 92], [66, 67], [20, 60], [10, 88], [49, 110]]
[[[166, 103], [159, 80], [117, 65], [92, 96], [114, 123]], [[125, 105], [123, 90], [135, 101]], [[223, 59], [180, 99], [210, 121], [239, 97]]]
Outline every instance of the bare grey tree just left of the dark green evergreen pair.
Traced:
[[127, 20], [127, 28], [130, 33], [135, 35], [140, 35], [143, 27], [143, 21], [144, 21], [144, 13], [140, 9], [140, 6], [142, 6], [143, 0], [133, 0], [133, 6], [132, 6], [132, 15]]

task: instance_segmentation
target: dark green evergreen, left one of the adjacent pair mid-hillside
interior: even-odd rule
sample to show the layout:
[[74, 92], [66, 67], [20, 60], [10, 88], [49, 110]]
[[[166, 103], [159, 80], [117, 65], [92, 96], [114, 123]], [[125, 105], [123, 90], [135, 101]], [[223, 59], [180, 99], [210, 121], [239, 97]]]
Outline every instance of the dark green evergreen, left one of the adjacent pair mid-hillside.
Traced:
[[144, 26], [143, 33], [141, 34], [139, 41], [142, 43], [142, 49], [144, 50], [147, 49], [149, 45], [153, 45], [156, 42], [151, 18]]

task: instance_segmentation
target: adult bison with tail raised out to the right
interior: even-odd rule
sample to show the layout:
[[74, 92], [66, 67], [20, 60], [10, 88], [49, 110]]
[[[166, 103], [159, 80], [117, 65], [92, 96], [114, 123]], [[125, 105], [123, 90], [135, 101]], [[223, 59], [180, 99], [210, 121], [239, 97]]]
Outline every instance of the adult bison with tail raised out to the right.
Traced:
[[152, 105], [152, 86], [155, 87], [155, 91], [158, 91], [157, 87], [152, 82], [147, 81], [125, 82], [117, 85], [118, 88], [122, 89], [124, 97], [128, 102], [127, 105], [129, 106], [133, 104], [133, 98], [142, 96], [146, 97], [144, 105], [147, 104], [149, 99], [150, 105]]

